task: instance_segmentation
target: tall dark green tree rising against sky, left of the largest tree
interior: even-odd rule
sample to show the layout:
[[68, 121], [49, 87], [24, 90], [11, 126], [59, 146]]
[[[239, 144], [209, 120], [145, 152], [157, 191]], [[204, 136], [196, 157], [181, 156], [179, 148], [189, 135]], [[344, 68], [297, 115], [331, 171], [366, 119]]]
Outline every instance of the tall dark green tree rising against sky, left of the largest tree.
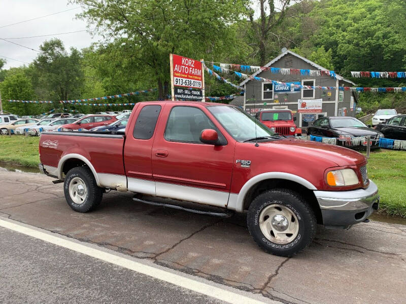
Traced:
[[81, 53], [75, 48], [68, 53], [59, 39], [44, 42], [40, 50], [33, 62], [38, 75], [35, 86], [45, 88], [51, 99], [79, 98], [84, 83]]

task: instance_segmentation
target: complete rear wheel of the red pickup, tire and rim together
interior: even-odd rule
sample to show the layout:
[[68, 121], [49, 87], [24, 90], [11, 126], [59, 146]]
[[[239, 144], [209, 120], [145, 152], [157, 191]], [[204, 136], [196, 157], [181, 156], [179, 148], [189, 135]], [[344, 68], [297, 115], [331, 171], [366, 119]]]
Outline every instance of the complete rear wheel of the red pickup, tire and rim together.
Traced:
[[67, 172], [63, 183], [67, 204], [77, 212], [88, 212], [103, 198], [103, 188], [96, 184], [88, 167], [75, 167]]

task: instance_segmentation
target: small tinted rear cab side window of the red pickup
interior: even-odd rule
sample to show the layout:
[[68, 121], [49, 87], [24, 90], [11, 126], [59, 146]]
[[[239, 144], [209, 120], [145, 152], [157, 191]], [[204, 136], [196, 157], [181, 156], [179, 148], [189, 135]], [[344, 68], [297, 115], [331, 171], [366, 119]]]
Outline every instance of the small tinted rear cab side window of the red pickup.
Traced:
[[150, 139], [154, 134], [160, 111], [160, 105], [144, 106], [138, 115], [132, 136], [137, 139]]

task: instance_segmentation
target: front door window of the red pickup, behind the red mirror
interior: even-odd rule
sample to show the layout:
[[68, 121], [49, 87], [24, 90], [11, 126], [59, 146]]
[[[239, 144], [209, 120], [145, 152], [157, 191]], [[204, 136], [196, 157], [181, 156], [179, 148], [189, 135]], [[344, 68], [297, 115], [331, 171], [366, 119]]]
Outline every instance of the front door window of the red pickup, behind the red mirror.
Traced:
[[166, 125], [165, 138], [200, 143], [200, 133], [204, 129], [219, 132], [202, 110], [191, 106], [175, 106]]

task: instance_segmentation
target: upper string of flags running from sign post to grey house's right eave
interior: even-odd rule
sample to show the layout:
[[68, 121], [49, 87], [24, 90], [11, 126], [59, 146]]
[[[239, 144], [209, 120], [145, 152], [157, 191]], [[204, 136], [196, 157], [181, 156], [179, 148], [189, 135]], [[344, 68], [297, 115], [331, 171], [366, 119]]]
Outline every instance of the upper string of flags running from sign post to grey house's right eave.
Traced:
[[[335, 71], [330, 70], [312, 70], [312, 69], [297, 69], [297, 68], [281, 68], [281, 67], [269, 67], [269, 66], [256, 66], [256, 65], [243, 65], [243, 64], [232, 64], [232, 63], [220, 63], [209, 61], [213, 65], [213, 69], [219, 72], [233, 72], [233, 71], [246, 71], [246, 72], [256, 72], [269, 71], [274, 74], [282, 75], [301, 75], [301, 76], [310, 76], [310, 77], [322, 77], [329, 76], [336, 79], [337, 74]], [[219, 65], [215, 65], [218, 63]]]

